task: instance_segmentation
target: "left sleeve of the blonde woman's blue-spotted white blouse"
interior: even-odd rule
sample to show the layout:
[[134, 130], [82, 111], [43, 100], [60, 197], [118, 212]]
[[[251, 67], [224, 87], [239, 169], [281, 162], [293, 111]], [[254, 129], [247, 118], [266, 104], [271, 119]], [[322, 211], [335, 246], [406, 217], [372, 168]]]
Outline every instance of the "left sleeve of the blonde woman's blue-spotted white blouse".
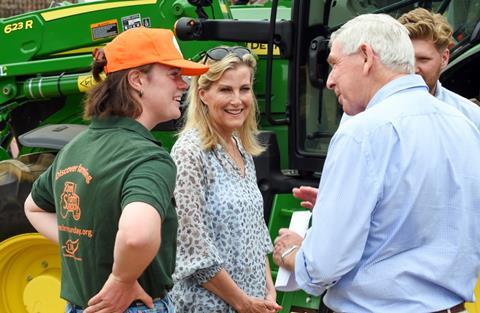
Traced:
[[193, 278], [202, 284], [215, 276], [223, 264], [214, 245], [213, 226], [205, 216], [206, 159], [200, 146], [185, 137], [175, 143], [172, 158], [177, 165], [174, 196], [178, 216], [174, 279]]

